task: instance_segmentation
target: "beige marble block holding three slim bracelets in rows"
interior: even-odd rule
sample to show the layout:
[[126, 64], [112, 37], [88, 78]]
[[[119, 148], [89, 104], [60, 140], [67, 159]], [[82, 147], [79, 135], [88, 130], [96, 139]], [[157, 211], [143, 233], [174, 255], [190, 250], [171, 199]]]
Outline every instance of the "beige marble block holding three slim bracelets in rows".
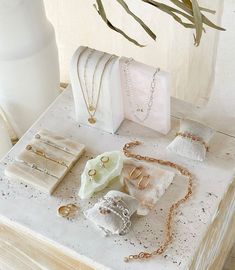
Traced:
[[52, 194], [84, 150], [83, 144], [41, 130], [7, 166], [5, 174]]

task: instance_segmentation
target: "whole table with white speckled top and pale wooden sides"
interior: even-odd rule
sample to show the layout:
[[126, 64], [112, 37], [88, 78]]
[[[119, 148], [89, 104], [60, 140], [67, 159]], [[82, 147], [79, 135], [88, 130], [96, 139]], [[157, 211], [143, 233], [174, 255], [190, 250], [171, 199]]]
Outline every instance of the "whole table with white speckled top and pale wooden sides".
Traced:
[[[4, 176], [6, 165], [41, 128], [78, 140], [87, 147], [84, 157], [53, 196]], [[177, 128], [178, 120], [175, 118], [172, 119], [172, 131], [167, 136], [130, 121], [124, 121], [115, 135], [81, 126], [74, 119], [71, 90], [62, 93], [0, 163], [0, 222], [7, 226], [4, 225], [1, 230], [0, 266], [4, 266], [4, 270], [18, 270], [9, 266], [12, 251], [7, 247], [17, 248], [25, 241], [29, 246], [34, 243], [34, 247], [39, 249], [35, 255], [33, 250], [23, 248], [16, 264], [24, 270], [221, 269], [235, 235], [235, 138], [216, 133], [206, 161], [200, 163], [166, 151]], [[77, 196], [80, 175], [86, 160], [91, 156], [104, 151], [121, 150], [124, 143], [133, 139], [144, 142], [138, 152], [185, 166], [195, 175], [195, 181], [193, 197], [177, 211], [174, 239], [166, 252], [149, 261], [126, 264], [124, 256], [142, 250], [151, 251], [160, 245], [164, 237], [167, 210], [173, 201], [184, 194], [186, 188], [185, 179], [177, 176], [149, 216], [134, 217], [132, 231], [128, 235], [104, 238], [82, 213], [103, 193], [89, 201], [80, 201]], [[57, 208], [69, 202], [76, 202], [80, 206], [73, 220], [57, 215]], [[14, 234], [21, 240], [14, 240]], [[25, 263], [26, 258], [30, 258], [32, 265]]]

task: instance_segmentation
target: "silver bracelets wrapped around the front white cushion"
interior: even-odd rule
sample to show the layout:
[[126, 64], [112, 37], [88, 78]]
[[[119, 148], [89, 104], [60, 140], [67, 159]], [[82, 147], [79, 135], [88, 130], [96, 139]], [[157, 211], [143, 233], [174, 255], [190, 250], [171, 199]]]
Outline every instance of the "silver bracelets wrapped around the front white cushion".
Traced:
[[130, 211], [127, 204], [121, 197], [108, 197], [101, 198], [101, 206], [99, 211], [101, 214], [114, 214], [122, 220], [122, 226], [118, 231], [119, 235], [125, 235], [128, 233], [131, 227]]

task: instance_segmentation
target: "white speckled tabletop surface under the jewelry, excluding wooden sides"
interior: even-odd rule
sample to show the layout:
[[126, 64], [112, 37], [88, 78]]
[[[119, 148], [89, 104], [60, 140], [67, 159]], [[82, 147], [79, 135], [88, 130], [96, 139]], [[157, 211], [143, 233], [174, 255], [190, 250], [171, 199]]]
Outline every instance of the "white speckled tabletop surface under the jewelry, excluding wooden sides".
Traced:
[[[24, 228], [36, 237], [53, 243], [94, 269], [189, 269], [208, 228], [217, 216], [220, 202], [226, 199], [224, 195], [232, 183], [235, 171], [235, 139], [216, 133], [206, 161], [190, 161], [166, 151], [166, 146], [174, 138], [177, 125], [178, 121], [173, 121], [173, 129], [168, 136], [130, 121], [125, 121], [116, 135], [81, 126], [74, 120], [71, 91], [65, 91], [1, 161], [0, 220]], [[7, 164], [24, 149], [35, 132], [42, 128], [77, 140], [85, 144], [87, 149], [53, 196], [4, 176]], [[152, 251], [160, 245], [167, 210], [185, 193], [185, 179], [177, 176], [147, 217], [134, 217], [132, 231], [124, 237], [104, 238], [82, 214], [82, 210], [91, 207], [108, 189], [89, 201], [81, 201], [77, 193], [87, 159], [104, 151], [120, 150], [124, 143], [136, 139], [144, 142], [138, 148], [139, 153], [168, 159], [187, 167], [195, 175], [195, 183], [193, 197], [177, 211], [174, 239], [167, 251], [149, 261], [126, 264], [123, 262], [126, 255], [143, 250]], [[76, 202], [80, 206], [78, 215], [73, 220], [58, 217], [57, 208], [69, 202]], [[224, 229], [229, 223], [230, 215], [228, 213], [224, 220]]]

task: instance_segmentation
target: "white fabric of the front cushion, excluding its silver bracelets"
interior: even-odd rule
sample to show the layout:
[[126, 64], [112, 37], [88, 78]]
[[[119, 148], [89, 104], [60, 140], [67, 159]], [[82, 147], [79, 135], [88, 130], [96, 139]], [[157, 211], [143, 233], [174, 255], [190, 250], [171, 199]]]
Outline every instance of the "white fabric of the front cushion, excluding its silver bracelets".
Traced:
[[[136, 199], [116, 190], [109, 191], [104, 197], [115, 198], [116, 196], [124, 201], [125, 205], [128, 207], [130, 216], [132, 216], [136, 212], [138, 205]], [[100, 207], [102, 207], [102, 201], [98, 201], [92, 208], [84, 211], [84, 215], [105, 234], [107, 234], [107, 232], [110, 234], [119, 234], [118, 232], [123, 225], [123, 221], [113, 213], [106, 215], [102, 214], [100, 212]]]

